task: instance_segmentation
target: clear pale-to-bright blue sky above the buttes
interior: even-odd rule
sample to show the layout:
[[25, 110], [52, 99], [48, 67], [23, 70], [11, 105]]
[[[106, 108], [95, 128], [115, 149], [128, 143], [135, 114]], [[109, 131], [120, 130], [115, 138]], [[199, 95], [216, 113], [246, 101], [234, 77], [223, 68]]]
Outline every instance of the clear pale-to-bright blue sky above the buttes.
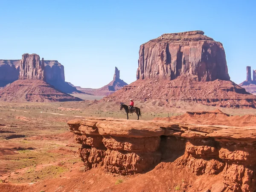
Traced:
[[115, 66], [129, 84], [141, 44], [191, 30], [223, 43], [232, 81], [256, 69], [255, 0], [0, 0], [0, 8], [0, 59], [58, 60], [76, 86], [104, 86]]

